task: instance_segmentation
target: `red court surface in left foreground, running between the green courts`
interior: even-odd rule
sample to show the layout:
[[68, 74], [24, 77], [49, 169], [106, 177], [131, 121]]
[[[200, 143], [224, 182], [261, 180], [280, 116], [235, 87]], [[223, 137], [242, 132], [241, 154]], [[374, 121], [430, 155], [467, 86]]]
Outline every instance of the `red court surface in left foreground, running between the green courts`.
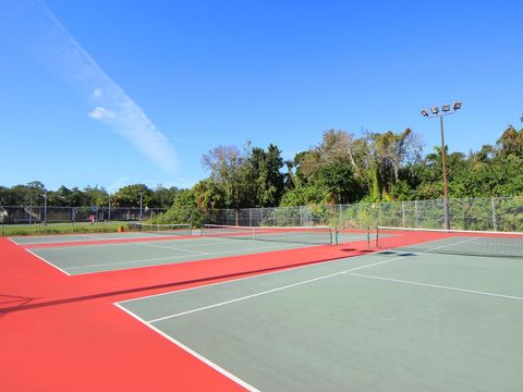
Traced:
[[0, 238], [1, 390], [241, 390], [113, 303], [367, 252], [358, 242], [66, 277]]

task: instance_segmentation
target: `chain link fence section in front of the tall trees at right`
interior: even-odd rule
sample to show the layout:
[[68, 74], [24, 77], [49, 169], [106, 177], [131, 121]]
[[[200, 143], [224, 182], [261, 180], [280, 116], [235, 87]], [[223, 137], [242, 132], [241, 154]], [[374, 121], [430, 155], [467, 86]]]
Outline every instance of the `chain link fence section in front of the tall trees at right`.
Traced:
[[[523, 231], [523, 196], [449, 199], [454, 230]], [[442, 199], [211, 210], [206, 222], [251, 226], [330, 225], [339, 229], [396, 226], [445, 229]]]

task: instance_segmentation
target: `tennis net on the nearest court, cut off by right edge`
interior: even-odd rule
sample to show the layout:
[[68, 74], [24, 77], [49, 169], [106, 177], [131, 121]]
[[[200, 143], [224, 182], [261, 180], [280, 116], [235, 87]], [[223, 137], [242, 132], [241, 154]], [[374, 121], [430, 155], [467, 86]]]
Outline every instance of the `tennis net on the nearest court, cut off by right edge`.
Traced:
[[379, 226], [376, 247], [401, 252], [523, 258], [523, 233]]

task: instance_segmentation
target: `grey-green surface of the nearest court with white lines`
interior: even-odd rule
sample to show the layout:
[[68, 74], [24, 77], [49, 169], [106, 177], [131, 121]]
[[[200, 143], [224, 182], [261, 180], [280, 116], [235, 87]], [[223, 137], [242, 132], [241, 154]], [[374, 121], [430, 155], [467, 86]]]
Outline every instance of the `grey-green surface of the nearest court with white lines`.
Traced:
[[397, 249], [117, 305], [250, 390], [523, 387], [521, 259]]

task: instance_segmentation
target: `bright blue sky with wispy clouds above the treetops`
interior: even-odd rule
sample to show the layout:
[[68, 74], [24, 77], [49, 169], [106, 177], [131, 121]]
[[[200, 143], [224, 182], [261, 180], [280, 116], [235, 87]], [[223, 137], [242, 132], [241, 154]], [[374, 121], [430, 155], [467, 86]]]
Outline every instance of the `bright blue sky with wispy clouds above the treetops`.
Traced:
[[0, 185], [192, 186], [202, 154], [340, 128], [494, 144], [523, 113], [521, 1], [0, 0]]

